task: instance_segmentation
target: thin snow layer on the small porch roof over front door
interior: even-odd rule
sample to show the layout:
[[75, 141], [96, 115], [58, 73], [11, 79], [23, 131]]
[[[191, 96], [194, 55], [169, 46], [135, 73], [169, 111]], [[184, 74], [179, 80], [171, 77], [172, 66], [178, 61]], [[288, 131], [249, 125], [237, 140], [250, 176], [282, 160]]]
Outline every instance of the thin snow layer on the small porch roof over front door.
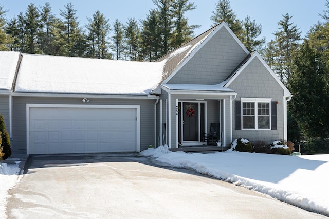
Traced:
[[224, 83], [206, 85], [206, 84], [162, 84], [170, 90], [196, 90], [208, 92], [234, 92], [234, 90], [224, 87]]

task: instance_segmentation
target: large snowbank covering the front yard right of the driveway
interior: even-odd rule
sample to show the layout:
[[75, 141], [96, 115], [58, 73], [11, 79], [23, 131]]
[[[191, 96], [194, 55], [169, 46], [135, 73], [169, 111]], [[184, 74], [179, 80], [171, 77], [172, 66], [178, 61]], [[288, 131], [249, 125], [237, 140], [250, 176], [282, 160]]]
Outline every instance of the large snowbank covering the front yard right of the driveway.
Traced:
[[329, 215], [326, 188], [329, 154], [287, 156], [228, 150], [217, 153], [171, 152], [168, 146], [140, 152], [166, 166], [195, 170], [283, 202]]

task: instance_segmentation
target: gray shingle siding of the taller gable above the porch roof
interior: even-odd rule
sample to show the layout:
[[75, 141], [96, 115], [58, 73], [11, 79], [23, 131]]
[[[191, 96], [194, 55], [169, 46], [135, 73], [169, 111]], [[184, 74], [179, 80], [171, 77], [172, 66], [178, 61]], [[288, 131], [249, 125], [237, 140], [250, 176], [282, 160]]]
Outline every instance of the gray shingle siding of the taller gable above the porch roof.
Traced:
[[168, 84], [218, 84], [247, 56], [232, 35], [221, 28]]

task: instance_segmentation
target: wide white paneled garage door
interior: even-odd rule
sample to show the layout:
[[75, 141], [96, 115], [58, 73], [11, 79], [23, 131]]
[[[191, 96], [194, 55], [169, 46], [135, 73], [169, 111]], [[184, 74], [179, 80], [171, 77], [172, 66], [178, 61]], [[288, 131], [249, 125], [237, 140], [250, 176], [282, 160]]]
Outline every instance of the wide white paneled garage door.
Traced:
[[136, 108], [29, 108], [29, 153], [137, 151]]

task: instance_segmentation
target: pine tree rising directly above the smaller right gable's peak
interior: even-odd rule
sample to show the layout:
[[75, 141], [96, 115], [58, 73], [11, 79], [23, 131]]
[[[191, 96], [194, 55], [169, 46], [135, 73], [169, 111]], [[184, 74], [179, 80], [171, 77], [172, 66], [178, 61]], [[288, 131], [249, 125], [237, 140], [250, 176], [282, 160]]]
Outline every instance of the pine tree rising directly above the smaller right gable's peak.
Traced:
[[250, 17], [247, 16], [243, 22], [243, 28], [239, 38], [249, 52], [254, 52], [260, 49], [265, 43], [265, 38], [257, 40], [261, 33], [262, 25], [257, 24], [255, 20], [251, 21]]

